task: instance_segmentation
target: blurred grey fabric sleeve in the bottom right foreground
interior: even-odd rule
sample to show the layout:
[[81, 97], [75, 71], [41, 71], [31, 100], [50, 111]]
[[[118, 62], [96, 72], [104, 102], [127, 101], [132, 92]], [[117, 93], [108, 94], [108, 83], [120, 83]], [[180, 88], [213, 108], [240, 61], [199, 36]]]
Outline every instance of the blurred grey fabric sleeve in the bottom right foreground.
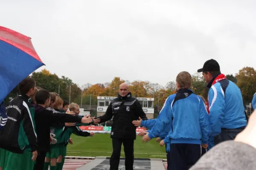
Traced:
[[226, 141], [213, 147], [189, 170], [256, 170], [256, 149]]

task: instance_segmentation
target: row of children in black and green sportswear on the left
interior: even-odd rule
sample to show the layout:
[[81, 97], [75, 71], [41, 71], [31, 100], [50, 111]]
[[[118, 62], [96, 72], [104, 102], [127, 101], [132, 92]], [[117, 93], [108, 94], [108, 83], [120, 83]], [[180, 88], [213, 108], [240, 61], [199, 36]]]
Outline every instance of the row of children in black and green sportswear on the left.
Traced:
[[33, 78], [18, 88], [21, 95], [6, 105], [9, 121], [0, 131], [0, 170], [62, 170], [71, 134], [93, 136], [79, 126], [94, 118], [79, 116], [79, 105], [35, 87]]

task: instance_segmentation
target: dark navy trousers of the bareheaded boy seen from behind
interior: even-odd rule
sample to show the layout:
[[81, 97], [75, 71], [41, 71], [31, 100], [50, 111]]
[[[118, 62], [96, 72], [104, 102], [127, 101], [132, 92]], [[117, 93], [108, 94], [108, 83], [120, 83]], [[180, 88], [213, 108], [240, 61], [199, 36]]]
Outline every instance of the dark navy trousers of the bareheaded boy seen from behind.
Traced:
[[201, 157], [201, 144], [171, 144], [169, 170], [189, 170]]

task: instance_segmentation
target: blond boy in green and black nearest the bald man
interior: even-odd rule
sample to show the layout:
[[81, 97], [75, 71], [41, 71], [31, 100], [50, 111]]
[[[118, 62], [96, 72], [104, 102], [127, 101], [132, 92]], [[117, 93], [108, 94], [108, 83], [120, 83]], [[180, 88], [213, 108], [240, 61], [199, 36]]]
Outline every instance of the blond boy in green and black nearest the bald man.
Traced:
[[[70, 112], [74, 112], [76, 116], [79, 115], [80, 113], [80, 108], [79, 105], [76, 103], [71, 103], [69, 105], [69, 110]], [[93, 121], [92, 123], [93, 124]], [[64, 161], [65, 161], [65, 156], [67, 155], [67, 144], [73, 144], [72, 139], [70, 138], [71, 134], [74, 133], [77, 136], [93, 136], [93, 132], [85, 132], [79, 128], [79, 126], [89, 126], [89, 123], [76, 123], [76, 126], [71, 126], [71, 127], [65, 127], [63, 130], [63, 133], [61, 134], [61, 139], [58, 140], [57, 144], [59, 145], [59, 156], [57, 159], [57, 168], [56, 170], [62, 170]]]

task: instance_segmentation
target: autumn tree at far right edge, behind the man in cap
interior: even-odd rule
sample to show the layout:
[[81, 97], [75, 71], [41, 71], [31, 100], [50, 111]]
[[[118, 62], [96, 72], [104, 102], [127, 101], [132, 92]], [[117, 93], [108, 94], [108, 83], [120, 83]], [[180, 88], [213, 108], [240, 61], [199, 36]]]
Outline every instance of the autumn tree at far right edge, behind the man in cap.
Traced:
[[244, 102], [251, 102], [253, 94], [256, 92], [256, 71], [252, 67], [244, 67], [236, 74], [236, 78]]

